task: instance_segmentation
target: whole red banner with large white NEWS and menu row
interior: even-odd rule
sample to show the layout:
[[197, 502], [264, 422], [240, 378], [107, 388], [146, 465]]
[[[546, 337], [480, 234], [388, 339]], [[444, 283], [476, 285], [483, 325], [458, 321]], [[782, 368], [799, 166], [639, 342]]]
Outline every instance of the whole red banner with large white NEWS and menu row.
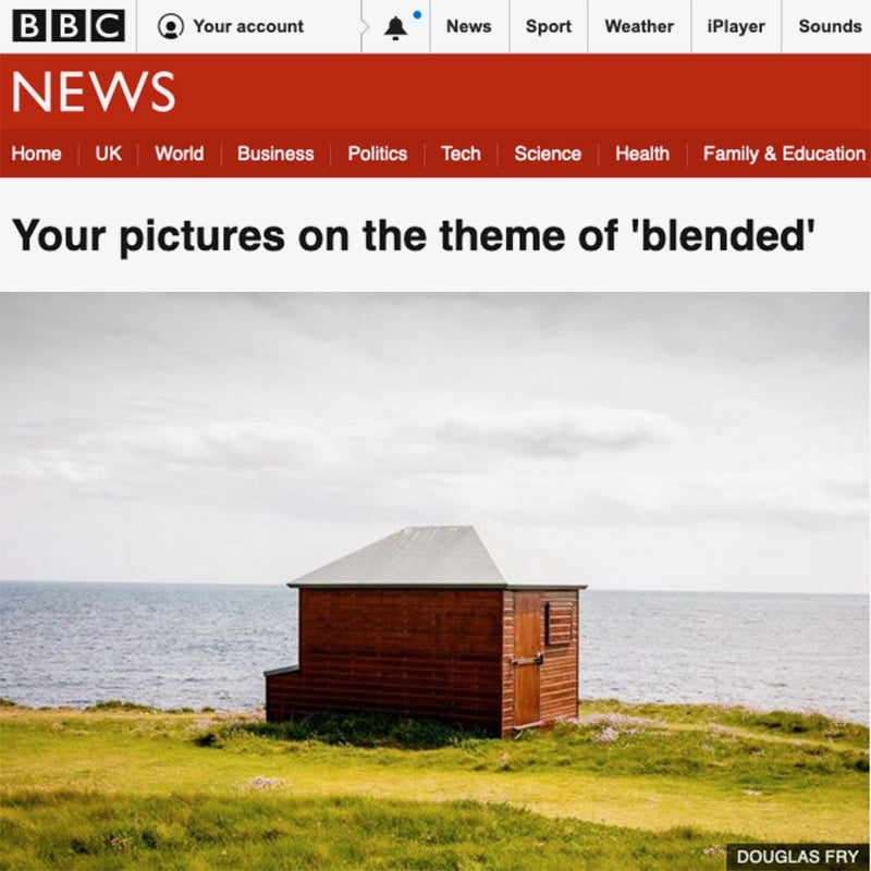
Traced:
[[871, 174], [868, 56], [4, 56], [0, 174]]

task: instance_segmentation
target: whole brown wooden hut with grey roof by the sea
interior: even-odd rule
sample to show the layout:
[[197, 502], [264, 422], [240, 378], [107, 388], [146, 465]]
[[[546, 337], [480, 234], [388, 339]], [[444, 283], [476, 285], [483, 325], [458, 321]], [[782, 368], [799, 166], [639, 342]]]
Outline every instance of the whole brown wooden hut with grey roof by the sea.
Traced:
[[577, 715], [584, 585], [507, 584], [470, 526], [406, 527], [287, 586], [298, 663], [266, 672], [270, 722], [384, 711], [504, 736]]

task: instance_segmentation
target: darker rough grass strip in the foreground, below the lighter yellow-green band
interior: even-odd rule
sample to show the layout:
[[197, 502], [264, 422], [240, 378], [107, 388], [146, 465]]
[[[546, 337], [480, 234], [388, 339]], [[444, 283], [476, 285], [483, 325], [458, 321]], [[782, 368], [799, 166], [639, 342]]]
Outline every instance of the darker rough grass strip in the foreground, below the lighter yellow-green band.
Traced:
[[[5, 868], [719, 869], [723, 837], [547, 820], [504, 805], [365, 798], [23, 793]], [[38, 832], [38, 841], [34, 836]], [[649, 860], [651, 864], [639, 864]], [[14, 862], [14, 864], [13, 864]]]

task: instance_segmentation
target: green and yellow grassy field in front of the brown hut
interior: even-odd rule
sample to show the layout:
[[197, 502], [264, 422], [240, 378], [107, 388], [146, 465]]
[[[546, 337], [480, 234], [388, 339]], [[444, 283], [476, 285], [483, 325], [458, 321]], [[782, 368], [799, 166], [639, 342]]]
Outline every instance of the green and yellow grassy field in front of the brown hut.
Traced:
[[733, 841], [868, 838], [868, 729], [737, 708], [587, 702], [495, 740], [3, 707], [0, 762], [9, 871], [694, 871]]

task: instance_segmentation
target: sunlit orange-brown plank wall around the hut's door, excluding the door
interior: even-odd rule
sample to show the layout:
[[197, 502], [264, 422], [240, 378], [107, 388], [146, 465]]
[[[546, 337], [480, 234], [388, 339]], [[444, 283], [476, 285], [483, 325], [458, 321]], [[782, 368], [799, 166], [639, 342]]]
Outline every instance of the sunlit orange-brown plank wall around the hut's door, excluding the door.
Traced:
[[[508, 590], [503, 600], [504, 635], [502, 643], [502, 734], [510, 735], [514, 722], [514, 674], [512, 665], [515, 640], [516, 597], [529, 596], [528, 591]], [[575, 590], [547, 590], [536, 592], [541, 609], [541, 637], [538, 649], [543, 654], [539, 670], [540, 708], [539, 716], [544, 725], [560, 717], [575, 717], [578, 710], [579, 685], [579, 602]], [[556, 643], [547, 643], [545, 606], [551, 605]], [[565, 621], [571, 623], [565, 631]], [[566, 635], [568, 640], [566, 642]]]

